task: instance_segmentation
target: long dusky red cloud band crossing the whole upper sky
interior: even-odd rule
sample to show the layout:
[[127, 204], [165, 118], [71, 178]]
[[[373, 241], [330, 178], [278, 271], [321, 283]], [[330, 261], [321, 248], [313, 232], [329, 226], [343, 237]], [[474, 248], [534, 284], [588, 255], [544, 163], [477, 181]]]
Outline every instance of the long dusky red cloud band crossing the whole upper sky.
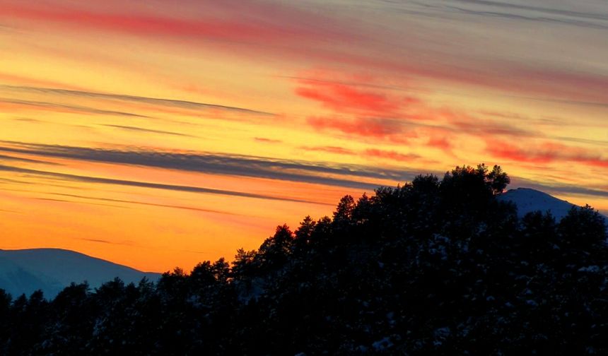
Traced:
[[[95, 5], [91, 5], [93, 3]], [[420, 49], [415, 45], [415, 38], [399, 43], [376, 41], [375, 38], [395, 38], [397, 32], [378, 26], [363, 26], [360, 21], [346, 23], [329, 11], [330, 15], [322, 16], [322, 11], [304, 11], [301, 6], [279, 4], [280, 1], [181, 1], [180, 5], [185, 3], [183, 6], [171, 6], [169, 1], [152, 2], [156, 6], [148, 3], [151, 1], [0, 0], [0, 16], [8, 21], [28, 20], [28, 25], [43, 28], [54, 22], [78, 30], [94, 28], [138, 35], [202, 37], [229, 40], [234, 45], [255, 42], [264, 47], [256, 54], [281, 59], [289, 57], [297, 61], [347, 64], [549, 100], [579, 100], [592, 105], [605, 105], [608, 100], [608, 79], [597, 73], [551, 69], [551, 66], [535, 67], [527, 63], [518, 64], [517, 61], [487, 61], [482, 57], [463, 57], [457, 53], [428, 61], [428, 56], [409, 55]], [[70, 4], [71, 7], [61, 4]], [[103, 8], [103, 11], [92, 10], [93, 7]], [[176, 8], [181, 8], [181, 13]], [[334, 40], [331, 46], [327, 46], [328, 39]], [[252, 54], [251, 48], [240, 47], [242, 50], [235, 51], [231, 45], [224, 49], [242, 56]], [[401, 101], [398, 100], [399, 105], [403, 104]]]

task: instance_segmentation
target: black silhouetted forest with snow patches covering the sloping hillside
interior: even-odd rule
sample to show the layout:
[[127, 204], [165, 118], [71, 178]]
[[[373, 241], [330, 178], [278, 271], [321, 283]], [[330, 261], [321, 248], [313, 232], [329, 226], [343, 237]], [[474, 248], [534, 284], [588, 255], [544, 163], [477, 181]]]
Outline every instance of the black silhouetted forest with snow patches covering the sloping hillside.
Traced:
[[0, 355], [608, 354], [603, 218], [518, 219], [508, 182], [456, 167], [344, 196], [232, 263], [52, 301], [0, 291]]

